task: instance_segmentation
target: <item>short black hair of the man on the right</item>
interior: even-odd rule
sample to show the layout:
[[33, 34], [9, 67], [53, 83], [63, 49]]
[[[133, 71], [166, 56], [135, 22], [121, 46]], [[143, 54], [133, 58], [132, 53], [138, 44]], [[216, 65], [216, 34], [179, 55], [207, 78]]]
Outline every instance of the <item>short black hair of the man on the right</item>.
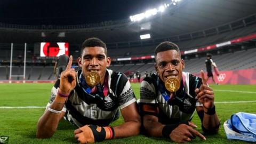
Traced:
[[[158, 52], [164, 52], [164, 51], [169, 51], [169, 50], [175, 50], [180, 54], [180, 49], [179, 49], [178, 45], [176, 45], [172, 42], [166, 41], [166, 42], [162, 42], [162, 43], [160, 43], [156, 46], [155, 60], [156, 60], [156, 55], [157, 55]], [[180, 54], [180, 57], [181, 57], [181, 54]]]

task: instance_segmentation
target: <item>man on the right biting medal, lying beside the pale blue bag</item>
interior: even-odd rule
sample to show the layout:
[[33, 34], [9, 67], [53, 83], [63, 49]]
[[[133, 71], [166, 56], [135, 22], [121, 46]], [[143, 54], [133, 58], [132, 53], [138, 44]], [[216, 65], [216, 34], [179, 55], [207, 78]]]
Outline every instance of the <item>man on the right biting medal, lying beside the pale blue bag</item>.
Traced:
[[185, 62], [179, 47], [163, 42], [155, 49], [155, 70], [143, 79], [140, 87], [140, 113], [143, 131], [154, 137], [167, 137], [174, 142], [187, 142], [199, 137], [206, 140], [191, 122], [195, 111], [205, 133], [217, 133], [220, 121], [214, 106], [213, 90], [201, 77], [183, 72]]

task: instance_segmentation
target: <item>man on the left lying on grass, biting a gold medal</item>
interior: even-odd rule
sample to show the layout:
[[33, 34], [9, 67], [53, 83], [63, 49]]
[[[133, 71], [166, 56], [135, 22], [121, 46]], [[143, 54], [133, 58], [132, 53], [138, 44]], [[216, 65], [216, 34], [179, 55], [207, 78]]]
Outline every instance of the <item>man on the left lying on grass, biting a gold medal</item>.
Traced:
[[[131, 84], [122, 73], [107, 69], [106, 44], [89, 38], [77, 59], [82, 70], [71, 68], [72, 56], [52, 88], [50, 102], [37, 125], [37, 138], [50, 138], [63, 117], [79, 127], [74, 131], [80, 143], [124, 138], [140, 132], [140, 116]], [[119, 117], [124, 123], [108, 126]]]

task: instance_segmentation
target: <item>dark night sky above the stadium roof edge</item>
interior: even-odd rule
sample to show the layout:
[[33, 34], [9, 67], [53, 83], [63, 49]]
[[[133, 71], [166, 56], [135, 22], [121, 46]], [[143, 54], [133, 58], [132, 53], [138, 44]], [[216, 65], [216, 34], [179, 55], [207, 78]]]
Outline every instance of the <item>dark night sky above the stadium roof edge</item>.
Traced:
[[158, 7], [159, 0], [1, 0], [0, 22], [20, 25], [77, 25], [128, 19]]

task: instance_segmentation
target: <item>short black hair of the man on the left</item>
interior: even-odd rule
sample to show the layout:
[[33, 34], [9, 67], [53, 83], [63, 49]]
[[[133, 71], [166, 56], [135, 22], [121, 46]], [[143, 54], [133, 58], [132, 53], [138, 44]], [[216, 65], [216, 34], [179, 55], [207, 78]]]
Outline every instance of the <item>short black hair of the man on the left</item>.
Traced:
[[81, 54], [83, 53], [83, 50], [85, 47], [95, 47], [95, 46], [102, 47], [105, 50], [105, 54], [108, 55], [106, 44], [97, 37], [88, 38], [83, 42]]

